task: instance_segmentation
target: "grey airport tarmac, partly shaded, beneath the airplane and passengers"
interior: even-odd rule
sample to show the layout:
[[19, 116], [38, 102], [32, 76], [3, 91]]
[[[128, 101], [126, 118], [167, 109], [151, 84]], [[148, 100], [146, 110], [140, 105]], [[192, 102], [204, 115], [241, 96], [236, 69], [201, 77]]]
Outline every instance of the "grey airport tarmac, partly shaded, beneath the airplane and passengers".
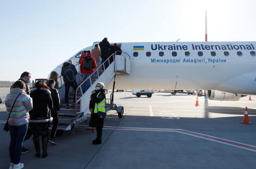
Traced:
[[[0, 88], [0, 126], [7, 119]], [[107, 94], [107, 98], [110, 93]], [[109, 111], [102, 144], [93, 145], [96, 132], [88, 122], [56, 137], [46, 158], [34, 156], [32, 138], [24, 146], [24, 169], [255, 169], [256, 96], [220, 102], [179, 92], [155, 91], [151, 98], [115, 92], [114, 103], [124, 106], [123, 118]], [[251, 125], [241, 124], [245, 106]], [[8, 132], [0, 130], [0, 169], [9, 167]]]

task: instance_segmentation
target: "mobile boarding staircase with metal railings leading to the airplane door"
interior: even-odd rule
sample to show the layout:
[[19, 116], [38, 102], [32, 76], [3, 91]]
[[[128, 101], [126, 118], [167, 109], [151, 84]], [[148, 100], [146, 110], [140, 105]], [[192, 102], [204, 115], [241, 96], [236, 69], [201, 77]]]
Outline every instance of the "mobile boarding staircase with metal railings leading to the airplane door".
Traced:
[[[114, 60], [110, 63], [110, 60]], [[105, 64], [107, 63], [109, 66], [105, 69]], [[116, 77], [116, 74], [119, 75], [129, 75], [130, 74], [130, 56], [126, 52], [122, 52], [121, 55], [115, 55], [113, 53], [107, 60], [105, 60], [103, 64], [97, 66], [97, 69], [89, 76], [87, 79], [83, 80], [82, 83], [78, 84], [76, 91], [70, 87], [69, 91], [69, 106], [70, 109], [65, 109], [65, 86], [64, 83], [61, 82], [61, 86], [59, 87], [59, 96], [60, 96], [60, 110], [59, 110], [59, 125], [56, 135], [61, 135], [64, 130], [71, 130], [75, 124], [81, 123], [90, 119], [90, 111], [89, 111], [89, 102], [90, 96], [93, 90], [95, 90], [96, 84], [98, 82], [103, 82], [105, 87], [108, 86], [110, 81]], [[78, 64], [77, 64], [78, 65]], [[79, 67], [79, 65], [76, 67]], [[100, 67], [103, 69], [100, 70]], [[79, 70], [79, 68], [78, 68]], [[98, 72], [98, 76], [92, 76], [95, 72]], [[77, 79], [81, 79], [81, 73], [79, 72], [77, 75]], [[61, 76], [58, 78], [62, 78]], [[83, 94], [81, 86], [85, 83], [86, 80], [90, 80], [91, 86], [90, 88]], [[115, 84], [115, 82], [114, 82]], [[114, 89], [113, 89], [114, 92]], [[76, 95], [75, 104], [73, 104], [73, 96], [74, 93]], [[111, 97], [113, 98], [113, 93], [111, 93]], [[106, 99], [107, 100], [107, 99]], [[110, 103], [106, 104], [106, 111], [116, 110], [118, 116], [121, 118], [123, 116], [123, 107], [116, 106], [113, 103], [113, 99], [110, 99]], [[52, 128], [52, 125], [50, 125]]]

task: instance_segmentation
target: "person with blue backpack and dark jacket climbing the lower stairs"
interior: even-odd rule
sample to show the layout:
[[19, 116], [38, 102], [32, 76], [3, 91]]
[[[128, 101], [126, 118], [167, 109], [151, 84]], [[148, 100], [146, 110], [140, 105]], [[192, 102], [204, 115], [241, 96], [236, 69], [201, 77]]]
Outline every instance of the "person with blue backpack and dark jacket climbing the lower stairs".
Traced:
[[[65, 71], [70, 69], [73, 73], [69, 73], [68, 75], [73, 76], [73, 77], [67, 77], [65, 74]], [[63, 81], [65, 84], [65, 104], [66, 104], [66, 109], [69, 109], [69, 88], [72, 86], [74, 90], [76, 91], [77, 88], [77, 83], [76, 83], [76, 75], [77, 70], [75, 65], [73, 65], [73, 61], [69, 60], [68, 62], [63, 63], [62, 69], [61, 69], [61, 76], [63, 76]], [[73, 78], [72, 81], [69, 79]], [[75, 92], [74, 92], [74, 97], [73, 97], [73, 104], [75, 104]]]

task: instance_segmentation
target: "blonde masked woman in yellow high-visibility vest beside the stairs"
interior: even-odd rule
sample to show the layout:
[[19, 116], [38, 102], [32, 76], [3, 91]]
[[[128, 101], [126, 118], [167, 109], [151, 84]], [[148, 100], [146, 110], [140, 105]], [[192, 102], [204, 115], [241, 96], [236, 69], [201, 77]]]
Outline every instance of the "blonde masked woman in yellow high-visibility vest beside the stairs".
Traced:
[[91, 119], [89, 126], [96, 127], [97, 137], [92, 141], [92, 144], [101, 144], [102, 128], [104, 124], [104, 119], [99, 119], [97, 117], [98, 111], [105, 112], [106, 103], [106, 90], [104, 89], [104, 84], [102, 82], [97, 83], [95, 90], [91, 94], [91, 100], [89, 104], [89, 109], [91, 111]]

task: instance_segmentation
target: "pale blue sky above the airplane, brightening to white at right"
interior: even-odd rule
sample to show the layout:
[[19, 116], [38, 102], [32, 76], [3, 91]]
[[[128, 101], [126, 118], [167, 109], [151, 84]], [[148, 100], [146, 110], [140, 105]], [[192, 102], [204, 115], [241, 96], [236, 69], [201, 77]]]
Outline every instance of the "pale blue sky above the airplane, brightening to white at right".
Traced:
[[253, 0], [1, 0], [0, 80], [47, 75], [94, 41], [255, 41]]

